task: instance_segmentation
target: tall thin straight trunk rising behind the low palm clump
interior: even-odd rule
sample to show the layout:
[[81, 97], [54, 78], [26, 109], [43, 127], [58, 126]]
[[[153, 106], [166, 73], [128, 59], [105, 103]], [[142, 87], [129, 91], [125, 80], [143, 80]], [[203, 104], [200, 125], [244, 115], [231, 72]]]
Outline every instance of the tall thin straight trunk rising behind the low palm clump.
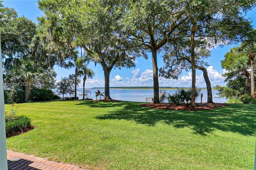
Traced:
[[191, 30], [191, 65], [192, 65], [192, 92], [191, 92], [191, 106], [196, 106], [196, 64], [195, 64], [195, 32], [196, 24]]

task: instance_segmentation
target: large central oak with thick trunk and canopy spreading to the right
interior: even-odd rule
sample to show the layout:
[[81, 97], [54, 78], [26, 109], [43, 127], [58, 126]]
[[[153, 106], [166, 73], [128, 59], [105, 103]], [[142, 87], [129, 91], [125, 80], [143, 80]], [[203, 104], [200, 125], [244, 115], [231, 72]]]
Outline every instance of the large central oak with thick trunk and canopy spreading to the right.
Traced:
[[[163, 51], [162, 47], [191, 35], [195, 39], [208, 37], [209, 45], [231, 43], [249, 30], [250, 22], [242, 12], [254, 5], [254, 0], [131, 1], [124, 15], [124, 28], [129, 31], [130, 39], [141, 43], [142, 50], [152, 53], [154, 103], [160, 102], [157, 53]], [[193, 25], [196, 29], [192, 29]]]

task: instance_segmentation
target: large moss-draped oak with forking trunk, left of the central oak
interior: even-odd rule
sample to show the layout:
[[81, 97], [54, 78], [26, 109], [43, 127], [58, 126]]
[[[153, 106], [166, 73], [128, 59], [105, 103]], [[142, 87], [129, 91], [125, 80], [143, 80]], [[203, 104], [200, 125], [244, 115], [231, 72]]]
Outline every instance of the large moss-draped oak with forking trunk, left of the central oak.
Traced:
[[[110, 100], [109, 82], [113, 68], [134, 67], [134, 42], [125, 36], [119, 21], [122, 17], [121, 0], [41, 0], [39, 8], [45, 14], [50, 43], [57, 49], [74, 45], [82, 47], [104, 70], [105, 96]], [[62, 48], [62, 50], [65, 48]]]

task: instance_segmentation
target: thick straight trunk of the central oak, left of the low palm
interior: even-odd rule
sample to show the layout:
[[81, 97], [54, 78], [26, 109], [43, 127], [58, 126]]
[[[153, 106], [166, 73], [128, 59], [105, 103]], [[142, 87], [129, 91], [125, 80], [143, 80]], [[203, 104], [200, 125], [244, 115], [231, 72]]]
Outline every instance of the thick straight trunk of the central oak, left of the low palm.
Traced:
[[154, 104], [159, 104], [159, 83], [158, 83], [158, 68], [157, 68], [157, 55], [156, 50], [152, 51], [152, 63], [153, 63], [153, 82], [154, 82]]

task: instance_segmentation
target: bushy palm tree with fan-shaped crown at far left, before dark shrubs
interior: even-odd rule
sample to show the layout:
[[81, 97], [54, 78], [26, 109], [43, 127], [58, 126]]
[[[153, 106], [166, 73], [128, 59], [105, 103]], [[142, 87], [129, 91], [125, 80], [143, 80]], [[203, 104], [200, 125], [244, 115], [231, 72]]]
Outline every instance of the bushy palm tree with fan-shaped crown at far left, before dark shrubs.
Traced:
[[36, 65], [34, 61], [20, 59], [21, 64], [11, 70], [12, 75], [20, 76], [24, 79], [24, 85], [26, 87], [25, 102], [30, 98], [31, 86], [38, 76], [43, 76], [43, 69]]

